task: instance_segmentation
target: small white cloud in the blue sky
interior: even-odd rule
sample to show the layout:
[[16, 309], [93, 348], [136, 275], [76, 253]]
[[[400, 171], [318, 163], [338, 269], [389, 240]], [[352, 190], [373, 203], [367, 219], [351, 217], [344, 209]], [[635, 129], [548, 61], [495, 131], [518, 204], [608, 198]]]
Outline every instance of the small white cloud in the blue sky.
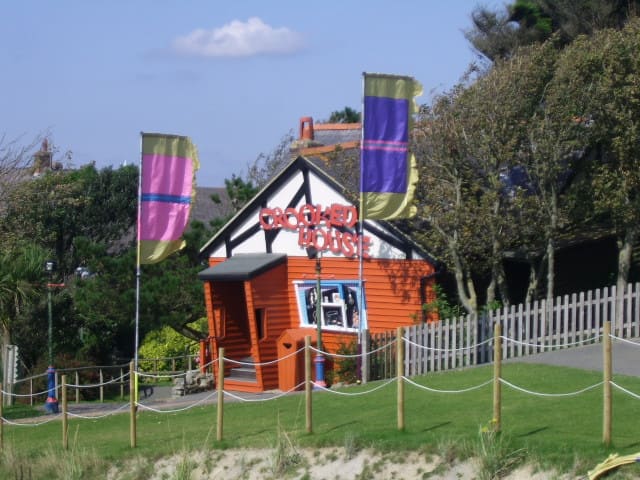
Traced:
[[273, 28], [257, 17], [232, 22], [213, 30], [196, 29], [177, 37], [173, 51], [200, 57], [249, 57], [294, 53], [304, 47], [302, 35], [288, 28]]

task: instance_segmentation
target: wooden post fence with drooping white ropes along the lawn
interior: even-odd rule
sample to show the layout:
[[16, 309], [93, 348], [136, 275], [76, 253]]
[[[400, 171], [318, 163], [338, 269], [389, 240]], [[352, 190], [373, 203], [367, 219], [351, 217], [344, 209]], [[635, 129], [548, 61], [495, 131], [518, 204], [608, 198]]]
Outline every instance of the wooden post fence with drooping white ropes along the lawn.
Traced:
[[[469, 346], [464, 346], [464, 347], [460, 347], [460, 349], [468, 349], [468, 348], [474, 348], [477, 346], [480, 346], [482, 344], [485, 344], [488, 341], [491, 341], [493, 343], [493, 363], [494, 363], [494, 375], [493, 378], [488, 379], [486, 381], [483, 381], [477, 385], [473, 385], [470, 387], [464, 387], [464, 388], [460, 388], [457, 390], [453, 390], [453, 389], [437, 389], [437, 388], [433, 388], [424, 384], [421, 384], [411, 378], [409, 378], [408, 376], [405, 375], [404, 373], [404, 364], [405, 362], [402, 361], [402, 359], [404, 359], [404, 346], [405, 344], [410, 345], [412, 348], [430, 348], [424, 345], [419, 345], [416, 344], [415, 342], [412, 342], [406, 338], [403, 337], [403, 329], [399, 328], [397, 331], [397, 336], [396, 339], [393, 341], [390, 341], [389, 343], [382, 345], [380, 347], [378, 347], [376, 350], [380, 351], [382, 349], [385, 348], [389, 348], [391, 345], [396, 346], [396, 354], [397, 354], [397, 363], [396, 363], [396, 374], [393, 378], [389, 378], [386, 379], [384, 381], [381, 381], [378, 385], [366, 389], [366, 390], [360, 390], [358, 389], [357, 391], [348, 391], [348, 389], [341, 389], [341, 390], [336, 390], [333, 388], [327, 388], [326, 386], [322, 385], [320, 382], [314, 382], [312, 381], [312, 374], [311, 374], [311, 356], [312, 356], [312, 352], [315, 352], [315, 354], [321, 354], [324, 355], [326, 357], [335, 357], [335, 358], [356, 358], [359, 357], [360, 355], [338, 355], [335, 353], [330, 353], [330, 352], [326, 352], [326, 351], [322, 351], [322, 350], [318, 350], [317, 348], [314, 348], [311, 346], [311, 337], [306, 337], [305, 338], [305, 346], [298, 349], [295, 352], [292, 352], [286, 356], [283, 356], [282, 358], [278, 358], [276, 360], [271, 360], [271, 361], [267, 361], [267, 362], [262, 362], [262, 363], [253, 363], [253, 362], [241, 362], [241, 361], [236, 361], [233, 359], [229, 359], [226, 358], [224, 355], [224, 349], [221, 348], [220, 351], [218, 352], [218, 358], [215, 359], [215, 361], [210, 362], [209, 364], [207, 364], [204, 367], [211, 367], [212, 370], [214, 370], [215, 368], [217, 368], [217, 372], [222, 372], [224, 371], [224, 367], [225, 367], [225, 362], [228, 362], [230, 364], [234, 364], [234, 365], [250, 365], [253, 367], [259, 367], [259, 366], [266, 366], [266, 365], [273, 365], [274, 363], [278, 363], [278, 362], [282, 362], [285, 360], [288, 360], [294, 356], [298, 356], [300, 354], [304, 354], [305, 356], [305, 379], [302, 382], [298, 382], [295, 386], [293, 386], [292, 388], [286, 390], [286, 391], [280, 391], [278, 393], [268, 393], [265, 394], [264, 397], [262, 398], [257, 398], [256, 396], [251, 396], [251, 397], [246, 397], [246, 396], [242, 396], [239, 395], [237, 393], [234, 393], [232, 391], [229, 390], [225, 390], [224, 389], [224, 378], [219, 378], [219, 381], [216, 382], [216, 390], [217, 391], [211, 391], [208, 395], [203, 396], [193, 402], [182, 402], [180, 407], [177, 408], [160, 408], [157, 405], [153, 405], [150, 402], [139, 402], [138, 401], [138, 381], [139, 379], [146, 379], [146, 380], [157, 380], [159, 378], [176, 378], [179, 376], [183, 376], [183, 374], [180, 375], [176, 375], [173, 373], [167, 373], [167, 374], [152, 374], [152, 373], [148, 373], [148, 372], [140, 372], [140, 371], [135, 371], [134, 370], [134, 366], [133, 363], [131, 363], [129, 365], [129, 371], [122, 372], [120, 376], [115, 377], [115, 378], [111, 378], [109, 380], [106, 381], [102, 381], [100, 383], [92, 383], [92, 384], [79, 384], [79, 383], [69, 383], [66, 380], [66, 375], [62, 375], [62, 381], [60, 383], [59, 386], [57, 386], [57, 388], [60, 390], [60, 395], [61, 398], [63, 399], [62, 401], [62, 413], [59, 414], [55, 414], [55, 415], [50, 415], [48, 416], [46, 419], [43, 420], [39, 420], [40, 417], [37, 417], [38, 420], [36, 419], [25, 419], [22, 421], [15, 421], [15, 420], [9, 420], [7, 418], [5, 418], [5, 416], [3, 415], [2, 412], [2, 405], [3, 405], [3, 400], [5, 396], [12, 396], [12, 397], [25, 397], [25, 396], [41, 396], [43, 394], [47, 394], [48, 391], [44, 391], [44, 392], [38, 392], [35, 394], [30, 394], [30, 395], [24, 395], [24, 394], [17, 394], [17, 393], [11, 393], [11, 392], [7, 392], [2, 388], [2, 385], [0, 384], [0, 449], [2, 448], [2, 430], [4, 428], [4, 426], [11, 426], [11, 427], [38, 427], [41, 425], [45, 425], [48, 424], [54, 420], [59, 420], [62, 419], [62, 424], [63, 424], [63, 447], [67, 448], [67, 437], [66, 437], [66, 429], [68, 428], [67, 425], [67, 417], [73, 417], [76, 419], [91, 419], [91, 420], [95, 420], [95, 419], [99, 419], [99, 418], [105, 418], [108, 417], [110, 415], [114, 415], [114, 414], [121, 414], [123, 413], [127, 407], [129, 407], [129, 413], [130, 413], [130, 442], [131, 442], [131, 447], [135, 448], [136, 444], [137, 444], [137, 416], [139, 414], [139, 411], [149, 411], [149, 412], [153, 412], [156, 414], [176, 414], [176, 413], [180, 413], [180, 412], [184, 412], [187, 410], [190, 410], [196, 406], [204, 406], [207, 404], [215, 404], [215, 408], [217, 409], [218, 415], [217, 415], [217, 439], [218, 440], [222, 440], [223, 439], [223, 418], [224, 418], [224, 403], [225, 403], [225, 398], [229, 398], [231, 401], [237, 401], [237, 402], [268, 402], [268, 401], [274, 401], [277, 399], [280, 399], [284, 396], [287, 395], [291, 395], [294, 393], [304, 393], [304, 397], [305, 397], [305, 403], [306, 403], [306, 426], [307, 426], [307, 432], [308, 433], [313, 433], [313, 416], [312, 416], [312, 409], [311, 409], [311, 402], [312, 402], [312, 396], [313, 393], [330, 393], [330, 394], [334, 394], [334, 395], [339, 395], [339, 396], [343, 396], [343, 397], [356, 397], [356, 396], [364, 396], [364, 395], [372, 395], [378, 391], [380, 391], [381, 389], [384, 389], [388, 386], [390, 386], [393, 383], [396, 383], [397, 385], [397, 391], [398, 391], [398, 395], [397, 395], [397, 416], [398, 416], [398, 429], [402, 430], [404, 429], [404, 386], [405, 385], [409, 385], [415, 389], [418, 390], [422, 390], [428, 393], [435, 393], [435, 394], [465, 394], [465, 393], [469, 393], [472, 391], [476, 391], [482, 388], [486, 388], [488, 387], [490, 384], [493, 384], [493, 425], [494, 425], [494, 429], [496, 431], [500, 431], [500, 429], [502, 428], [501, 425], [501, 409], [502, 409], [502, 391], [501, 391], [501, 387], [502, 385], [520, 392], [522, 394], [526, 394], [526, 395], [532, 395], [532, 396], [538, 396], [538, 397], [549, 397], [549, 398], [567, 398], [567, 397], [574, 397], [574, 396], [578, 396], [578, 395], [582, 395], [585, 394], [587, 392], [590, 392], [592, 390], [595, 390], [597, 388], [602, 387], [603, 389], [603, 406], [604, 406], [604, 419], [603, 419], [603, 443], [605, 445], [609, 445], [611, 442], [611, 402], [612, 402], [612, 398], [611, 398], [611, 389], [615, 388], [617, 390], [619, 390], [620, 392], [632, 397], [633, 399], [636, 400], [640, 400], [640, 394], [634, 393], [626, 388], [624, 388], [623, 386], [618, 385], [617, 383], [615, 383], [612, 378], [611, 378], [611, 343], [612, 340], [615, 341], [619, 341], [619, 342], [624, 342], [624, 343], [628, 343], [628, 344], [632, 344], [633, 346], [639, 347], [640, 348], [640, 343], [638, 342], [633, 342], [633, 341], [629, 341], [626, 340], [624, 338], [620, 338], [617, 337], [615, 335], [611, 334], [610, 331], [610, 324], [609, 322], [606, 322], [604, 324], [604, 333], [602, 335], [598, 335], [596, 337], [602, 337], [602, 344], [603, 344], [603, 353], [604, 353], [604, 358], [603, 358], [603, 381], [601, 382], [597, 382], [593, 385], [589, 385], [586, 386], [584, 388], [575, 390], [575, 391], [569, 391], [569, 392], [541, 392], [541, 391], [535, 391], [533, 389], [530, 388], [526, 388], [524, 386], [521, 385], [516, 385], [504, 378], [502, 378], [502, 374], [501, 374], [501, 363], [502, 363], [502, 352], [503, 352], [503, 345], [502, 342], [519, 342], [516, 339], [513, 338], [509, 338], [507, 336], [503, 336], [501, 334], [501, 326], [500, 324], [496, 323], [495, 325], [495, 329], [494, 329], [494, 336], [492, 339], [489, 340], [483, 340], [482, 342], [478, 342], [478, 344], [476, 344], [475, 346], [469, 347]], [[578, 342], [570, 342], [567, 343], [566, 346], [575, 346], [578, 344], [583, 344], [583, 343], [587, 343], [587, 342], [593, 342], [594, 339], [596, 339], [596, 337], [592, 337], [589, 339], [584, 339]], [[530, 346], [536, 346], [534, 344], [531, 344]], [[557, 347], [557, 345], [556, 345]], [[374, 353], [376, 353], [375, 351], [371, 351], [371, 352], [366, 352], [366, 355], [373, 355]], [[104, 412], [104, 411], [96, 411], [93, 414], [83, 414], [82, 412], [78, 411], [78, 412], [74, 412], [74, 411], [70, 411], [67, 405], [67, 389], [71, 388], [74, 389], [76, 392], [79, 391], [80, 389], [95, 389], [95, 388], [104, 388], [106, 386], [109, 385], [114, 385], [114, 384], [119, 384], [119, 385], [123, 385], [126, 380], [128, 379], [130, 387], [129, 387], [129, 392], [133, 392], [133, 394], [129, 395], [129, 403], [123, 403], [118, 405], [117, 407], [115, 407], [114, 409], [110, 410], [109, 412]], [[304, 392], [299, 392], [300, 389], [304, 388]], [[216, 398], [217, 397], [217, 398]], [[85, 412], [86, 413], [86, 412]]]

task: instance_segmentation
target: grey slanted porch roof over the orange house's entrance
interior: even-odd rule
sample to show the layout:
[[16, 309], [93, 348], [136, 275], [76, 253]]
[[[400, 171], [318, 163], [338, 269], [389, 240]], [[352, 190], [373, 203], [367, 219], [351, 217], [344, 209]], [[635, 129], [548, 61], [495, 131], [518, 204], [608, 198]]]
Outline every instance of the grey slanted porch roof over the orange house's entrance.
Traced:
[[280, 265], [286, 259], [284, 253], [240, 253], [201, 271], [198, 278], [217, 282], [249, 280]]

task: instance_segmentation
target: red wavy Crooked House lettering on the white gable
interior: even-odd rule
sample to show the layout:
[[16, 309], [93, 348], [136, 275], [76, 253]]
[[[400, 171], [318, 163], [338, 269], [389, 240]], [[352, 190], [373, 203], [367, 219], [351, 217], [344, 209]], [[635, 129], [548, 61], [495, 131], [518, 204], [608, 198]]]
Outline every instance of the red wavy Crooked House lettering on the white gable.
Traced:
[[369, 258], [371, 238], [350, 231], [358, 222], [358, 210], [351, 205], [333, 203], [328, 207], [305, 204], [301, 207], [263, 208], [260, 210], [263, 230], [283, 228], [298, 232], [298, 245], [314, 247], [319, 252], [331, 251], [345, 257]]

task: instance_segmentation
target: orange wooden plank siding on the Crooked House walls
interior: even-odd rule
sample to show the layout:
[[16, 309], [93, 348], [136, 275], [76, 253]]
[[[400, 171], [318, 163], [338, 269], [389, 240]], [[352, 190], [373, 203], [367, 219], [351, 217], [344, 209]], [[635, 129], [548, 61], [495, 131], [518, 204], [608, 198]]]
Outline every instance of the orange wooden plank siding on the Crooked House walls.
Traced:
[[[224, 260], [210, 259], [209, 264], [213, 266]], [[321, 267], [323, 281], [358, 281], [357, 259], [323, 258]], [[434, 268], [429, 262], [368, 259], [363, 267], [370, 332], [394, 330], [411, 325], [416, 319], [422, 319], [421, 279], [427, 278], [427, 300], [434, 297]], [[315, 268], [315, 260], [288, 257], [286, 263], [247, 282], [205, 282], [209, 334], [214, 337], [211, 344], [213, 356], [217, 357], [215, 350], [225, 347], [227, 358], [240, 360], [252, 356], [256, 363], [271, 362], [278, 358], [278, 338], [287, 329], [308, 331], [315, 340], [316, 327], [300, 325], [294, 288], [294, 281], [316, 281]], [[222, 338], [216, 337], [217, 327], [214, 321], [218, 305], [222, 305], [226, 316], [225, 336]], [[261, 309], [265, 315], [262, 339], [258, 338], [256, 309]], [[349, 345], [356, 339], [355, 332], [322, 331], [323, 350], [327, 352], [335, 353], [340, 345]], [[325, 370], [330, 371], [333, 363], [333, 358], [328, 358]], [[232, 366], [227, 365], [229, 369]], [[225, 381], [225, 385], [231, 390], [240, 391], [264, 391], [278, 388], [279, 385], [291, 385], [299, 379], [281, 378], [282, 375], [291, 375], [290, 367], [283, 365], [279, 369], [278, 363], [258, 366], [255, 384]], [[225, 370], [228, 373], [227, 368]], [[293, 384], [295, 385], [297, 383]]]

